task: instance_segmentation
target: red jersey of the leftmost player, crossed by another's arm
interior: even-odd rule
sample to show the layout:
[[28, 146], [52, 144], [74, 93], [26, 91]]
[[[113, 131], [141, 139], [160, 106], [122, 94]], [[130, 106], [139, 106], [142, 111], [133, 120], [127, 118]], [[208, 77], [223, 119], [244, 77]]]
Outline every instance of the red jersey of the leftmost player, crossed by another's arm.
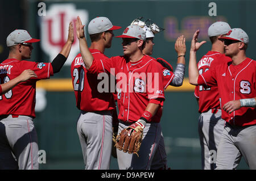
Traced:
[[0, 64], [0, 83], [17, 77], [23, 70], [34, 70], [37, 78], [30, 78], [19, 83], [10, 91], [0, 96], [0, 115], [24, 115], [35, 117], [36, 81], [47, 79], [53, 75], [51, 63], [19, 61], [7, 59]]

